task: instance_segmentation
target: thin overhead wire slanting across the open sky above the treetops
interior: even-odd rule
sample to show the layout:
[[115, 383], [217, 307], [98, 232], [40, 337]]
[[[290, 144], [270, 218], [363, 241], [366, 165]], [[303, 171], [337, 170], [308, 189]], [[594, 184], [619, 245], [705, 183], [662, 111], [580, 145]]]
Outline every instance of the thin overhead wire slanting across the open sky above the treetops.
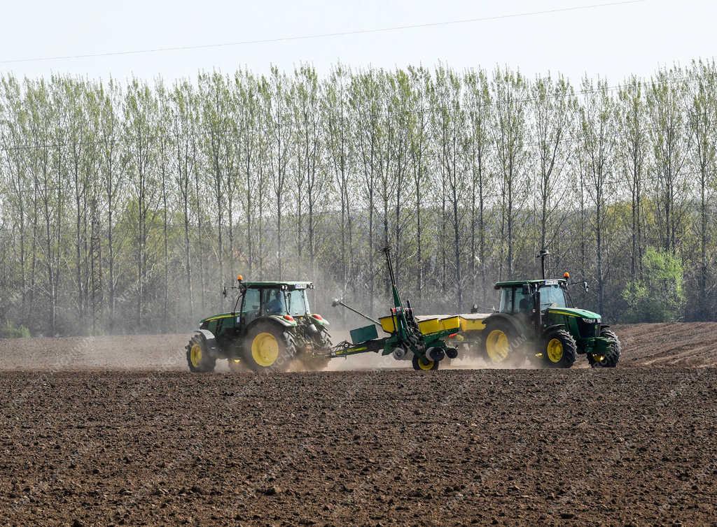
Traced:
[[398, 32], [398, 31], [405, 31], [407, 29], [425, 29], [425, 28], [430, 28], [430, 27], [452, 26], [452, 25], [457, 25], [457, 24], [473, 24], [475, 22], [513, 19], [513, 18], [520, 18], [523, 16], [538, 16], [538, 15], [546, 15], [546, 14], [566, 13], [569, 11], [584, 11], [587, 9], [599, 9], [602, 7], [625, 6], [627, 4], [640, 4], [645, 1], [647, 1], [647, 0], [612, 1], [612, 2], [605, 2], [602, 4], [590, 4], [587, 6], [561, 7], [561, 8], [556, 8], [556, 9], [543, 9], [542, 11], [525, 11], [522, 13], [510, 13], [510, 14], [502, 14], [502, 15], [495, 15], [495, 16], [482, 16], [479, 18], [472, 18], [472, 19], [447, 20], [447, 21], [440, 21], [440, 22], [425, 22], [424, 24], [407, 24], [407, 25], [403, 25], [403, 26], [378, 27], [378, 28], [373, 28], [373, 29], [353, 29], [350, 31], [342, 31], [342, 32], [318, 33], [318, 34], [309, 34], [309, 35], [295, 35], [295, 36], [288, 36], [288, 37], [274, 37], [274, 38], [269, 38], [269, 39], [242, 40], [242, 41], [238, 41], [238, 42], [222, 42], [222, 43], [217, 43], [217, 44], [198, 44], [198, 45], [190, 45], [190, 46], [172, 46], [172, 47], [158, 47], [158, 48], [149, 48], [149, 49], [131, 49], [131, 50], [125, 50], [125, 51], [119, 51], [119, 52], [84, 53], [84, 54], [76, 54], [76, 55], [58, 55], [55, 57], [31, 57], [31, 58], [24, 58], [24, 59], [6, 59], [6, 60], [0, 60], [0, 64], [18, 64], [21, 62], [49, 62], [49, 61], [56, 61], [56, 60], [71, 60], [71, 59], [92, 59], [92, 58], [98, 58], [98, 57], [120, 57], [123, 55], [137, 55], [137, 54], [160, 53], [160, 52], [179, 52], [179, 51], [187, 51], [187, 50], [191, 50], [191, 49], [211, 49], [211, 48], [218, 48], [218, 47], [247, 46], [247, 45], [251, 45], [251, 44], [272, 44], [272, 43], [276, 43], [276, 42], [295, 42], [298, 40], [328, 39], [328, 38], [332, 38], [332, 37], [349, 37], [351, 35]]

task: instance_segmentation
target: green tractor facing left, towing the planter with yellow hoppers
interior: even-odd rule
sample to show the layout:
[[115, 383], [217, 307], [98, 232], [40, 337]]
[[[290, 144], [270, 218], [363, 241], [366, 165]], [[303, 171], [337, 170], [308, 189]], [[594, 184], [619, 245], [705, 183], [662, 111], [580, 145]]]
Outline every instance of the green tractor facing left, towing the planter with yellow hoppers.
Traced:
[[[191, 372], [212, 372], [227, 359], [232, 372], [284, 371], [299, 361], [307, 369], [328, 364], [328, 321], [309, 309], [306, 281], [244, 282], [234, 311], [202, 319], [186, 345]], [[238, 308], [238, 309], [237, 309]]]

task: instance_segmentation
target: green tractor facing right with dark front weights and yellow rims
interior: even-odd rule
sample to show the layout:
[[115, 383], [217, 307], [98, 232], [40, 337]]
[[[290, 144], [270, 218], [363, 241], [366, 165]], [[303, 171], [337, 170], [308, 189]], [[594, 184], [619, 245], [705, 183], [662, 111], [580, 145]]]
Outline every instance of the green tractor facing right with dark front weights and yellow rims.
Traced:
[[[620, 358], [617, 335], [602, 324], [602, 317], [587, 309], [570, 307], [569, 274], [562, 279], [502, 281], [500, 308], [483, 319], [483, 344], [487, 358], [503, 362], [515, 354], [536, 357], [547, 367], [571, 367], [578, 354], [592, 367], [615, 367]], [[583, 282], [585, 291], [587, 282]]]

